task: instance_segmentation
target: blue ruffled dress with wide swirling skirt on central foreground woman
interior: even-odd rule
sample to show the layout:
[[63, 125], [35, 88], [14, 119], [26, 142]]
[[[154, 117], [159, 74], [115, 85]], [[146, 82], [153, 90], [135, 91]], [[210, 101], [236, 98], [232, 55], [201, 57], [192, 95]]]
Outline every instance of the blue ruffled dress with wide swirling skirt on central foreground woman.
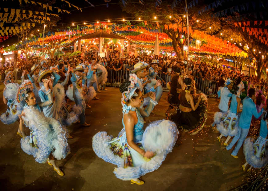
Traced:
[[[127, 106], [124, 105], [124, 107]], [[169, 120], [154, 121], [144, 131], [144, 120], [139, 110], [136, 108], [130, 108], [130, 110], [136, 110], [138, 118], [133, 129], [133, 141], [141, 149], [154, 152], [152, 158], [143, 157], [128, 145], [124, 116], [122, 119], [124, 127], [118, 137], [113, 138], [108, 136], [107, 132], [102, 131], [96, 133], [92, 138], [92, 148], [96, 155], [106, 162], [117, 165], [114, 173], [121, 180], [139, 178], [158, 169], [166, 155], [172, 151], [179, 133], [175, 123]]]

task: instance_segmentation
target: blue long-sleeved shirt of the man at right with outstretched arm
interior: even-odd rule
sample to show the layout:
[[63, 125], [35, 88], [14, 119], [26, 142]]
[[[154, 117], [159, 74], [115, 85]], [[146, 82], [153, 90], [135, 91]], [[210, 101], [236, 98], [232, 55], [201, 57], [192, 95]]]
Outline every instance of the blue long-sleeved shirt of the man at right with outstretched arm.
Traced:
[[256, 105], [250, 97], [246, 97], [245, 99], [243, 99], [242, 103], [243, 103], [243, 110], [239, 118], [238, 125], [243, 129], [248, 129], [250, 128], [252, 115], [254, 115], [256, 119], [258, 119], [262, 115], [263, 108], [260, 111], [260, 113], [258, 113]]

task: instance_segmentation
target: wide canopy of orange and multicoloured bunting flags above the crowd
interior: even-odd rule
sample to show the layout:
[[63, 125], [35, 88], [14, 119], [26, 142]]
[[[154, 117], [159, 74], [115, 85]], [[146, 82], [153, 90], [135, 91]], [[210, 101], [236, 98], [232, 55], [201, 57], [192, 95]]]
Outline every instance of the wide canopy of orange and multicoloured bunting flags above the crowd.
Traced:
[[[106, 38], [120, 38], [123, 37], [128, 39], [130, 42], [137, 45], [143, 46], [144, 48], [154, 50], [156, 38], [159, 38], [159, 48], [160, 50], [173, 51], [172, 40], [167, 34], [163, 32], [165, 29], [178, 30], [181, 35], [187, 34], [186, 27], [177, 27], [173, 24], [160, 25], [145, 25], [144, 22], [138, 23], [136, 25], [131, 25], [130, 23], [118, 24], [112, 22], [102, 22], [94, 23], [86, 26], [79, 27], [76, 29], [59, 29], [55, 32], [47, 32], [44, 36], [45, 44], [54, 41], [62, 41], [61, 47], [67, 46], [69, 43], [74, 43], [78, 39], [87, 38], [98, 38], [104, 37], [103, 34], [108, 35]], [[95, 32], [99, 30], [98, 32]], [[222, 54], [230, 56], [248, 57], [248, 55], [239, 49], [234, 44], [224, 41], [221, 38], [217, 38], [214, 35], [206, 34], [200, 30], [193, 30], [189, 27], [189, 33], [193, 39], [200, 40], [202, 43], [198, 46], [190, 46], [189, 50], [200, 53], [207, 54]], [[70, 41], [68, 40], [70, 34]], [[65, 41], [63, 41], [65, 39]], [[5, 48], [5, 51], [18, 50], [20, 44], [28, 44], [29, 46], [40, 46], [42, 45], [43, 36], [42, 34], [35, 35], [33, 37], [27, 38], [18, 46], [9, 46]], [[191, 45], [191, 44], [190, 44]], [[9, 49], [9, 50], [8, 50]]]

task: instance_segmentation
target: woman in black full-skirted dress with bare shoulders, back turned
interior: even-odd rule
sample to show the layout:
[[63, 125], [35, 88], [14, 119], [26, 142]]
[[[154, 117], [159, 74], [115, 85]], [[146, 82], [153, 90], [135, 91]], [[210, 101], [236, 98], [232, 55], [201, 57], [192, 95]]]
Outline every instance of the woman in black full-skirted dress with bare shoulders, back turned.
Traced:
[[180, 109], [169, 117], [177, 124], [178, 128], [197, 134], [205, 125], [207, 115], [207, 98], [204, 94], [192, 95], [194, 89], [192, 79], [185, 78], [185, 90], [180, 93]]

